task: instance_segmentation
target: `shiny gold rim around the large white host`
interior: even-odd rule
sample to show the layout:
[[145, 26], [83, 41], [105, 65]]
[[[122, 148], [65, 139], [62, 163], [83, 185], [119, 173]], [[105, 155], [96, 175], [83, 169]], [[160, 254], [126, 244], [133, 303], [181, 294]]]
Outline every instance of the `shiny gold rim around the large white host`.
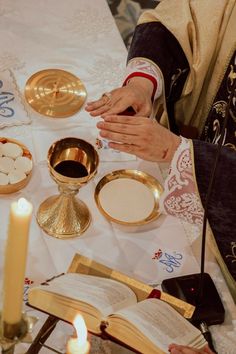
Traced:
[[[137, 222], [126, 222], [126, 221], [114, 218], [112, 215], [107, 213], [106, 210], [104, 210], [104, 208], [101, 205], [100, 198], [99, 198], [100, 191], [107, 183], [109, 183], [115, 179], [120, 179], [120, 178], [134, 179], [136, 181], [143, 183], [146, 187], [149, 188], [149, 190], [151, 191], [153, 198], [154, 198], [154, 208], [148, 217], [146, 217], [142, 220], [138, 220]], [[163, 187], [157, 181], [157, 179], [145, 172], [142, 172], [139, 170], [117, 170], [117, 171], [113, 171], [112, 173], [107, 174], [98, 182], [96, 189], [95, 189], [94, 198], [95, 198], [96, 204], [98, 206], [98, 209], [108, 220], [118, 223], [118, 224], [121, 224], [121, 225], [138, 226], [138, 225], [147, 224], [159, 217], [159, 215], [160, 215], [159, 199], [160, 199], [160, 195], [162, 192], [163, 192]], [[119, 193], [119, 191], [117, 193]]]

